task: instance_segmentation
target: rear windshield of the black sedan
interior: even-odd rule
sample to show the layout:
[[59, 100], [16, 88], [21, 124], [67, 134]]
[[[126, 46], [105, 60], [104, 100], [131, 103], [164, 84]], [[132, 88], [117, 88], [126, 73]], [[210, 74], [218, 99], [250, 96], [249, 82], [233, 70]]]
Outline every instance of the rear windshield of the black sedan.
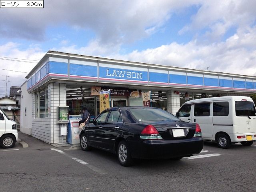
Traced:
[[130, 113], [138, 121], [155, 121], [155, 120], [174, 120], [180, 121], [179, 118], [167, 111], [157, 108], [134, 108], [129, 109]]

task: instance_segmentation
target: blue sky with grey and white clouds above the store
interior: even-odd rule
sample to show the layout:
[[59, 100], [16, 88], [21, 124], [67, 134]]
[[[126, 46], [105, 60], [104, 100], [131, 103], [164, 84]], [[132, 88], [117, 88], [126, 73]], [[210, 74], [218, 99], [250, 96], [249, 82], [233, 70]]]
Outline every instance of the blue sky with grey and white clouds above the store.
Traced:
[[30, 72], [36, 62], [19, 60], [48, 50], [256, 76], [255, 7], [255, 0], [44, 0], [42, 9], [1, 8], [0, 77], [20, 86], [24, 73], [8, 70]]

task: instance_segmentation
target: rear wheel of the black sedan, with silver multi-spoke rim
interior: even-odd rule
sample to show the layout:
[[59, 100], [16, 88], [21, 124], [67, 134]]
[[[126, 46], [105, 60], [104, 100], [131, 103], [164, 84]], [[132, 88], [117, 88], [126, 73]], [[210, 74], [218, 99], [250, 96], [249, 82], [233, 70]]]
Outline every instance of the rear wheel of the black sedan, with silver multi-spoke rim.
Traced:
[[125, 141], [121, 141], [118, 144], [117, 156], [118, 156], [118, 160], [122, 166], [127, 167], [133, 163], [130, 150]]

